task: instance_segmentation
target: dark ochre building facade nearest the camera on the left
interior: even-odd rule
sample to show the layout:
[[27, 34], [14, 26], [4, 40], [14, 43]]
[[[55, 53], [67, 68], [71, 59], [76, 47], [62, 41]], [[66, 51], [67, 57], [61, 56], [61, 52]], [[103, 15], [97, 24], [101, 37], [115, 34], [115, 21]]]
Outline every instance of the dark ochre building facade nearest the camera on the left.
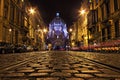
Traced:
[[0, 0], [0, 43], [23, 44], [29, 27], [24, 0]]

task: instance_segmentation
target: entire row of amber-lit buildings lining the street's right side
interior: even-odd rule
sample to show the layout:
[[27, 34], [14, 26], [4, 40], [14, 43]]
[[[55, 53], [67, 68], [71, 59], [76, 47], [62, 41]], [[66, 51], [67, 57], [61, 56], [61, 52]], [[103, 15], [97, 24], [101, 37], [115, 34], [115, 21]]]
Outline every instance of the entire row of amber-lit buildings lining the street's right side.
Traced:
[[[84, 15], [72, 25], [81, 49], [120, 50], [120, 0], [83, 0]], [[80, 9], [81, 11], [81, 9]]]

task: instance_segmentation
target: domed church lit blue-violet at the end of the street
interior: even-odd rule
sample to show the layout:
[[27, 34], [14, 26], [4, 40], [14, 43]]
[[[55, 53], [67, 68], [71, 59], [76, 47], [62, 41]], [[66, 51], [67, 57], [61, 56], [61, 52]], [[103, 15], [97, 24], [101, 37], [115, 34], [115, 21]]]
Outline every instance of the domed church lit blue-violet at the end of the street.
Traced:
[[66, 23], [56, 13], [56, 17], [49, 24], [48, 39], [53, 49], [64, 48], [69, 39]]

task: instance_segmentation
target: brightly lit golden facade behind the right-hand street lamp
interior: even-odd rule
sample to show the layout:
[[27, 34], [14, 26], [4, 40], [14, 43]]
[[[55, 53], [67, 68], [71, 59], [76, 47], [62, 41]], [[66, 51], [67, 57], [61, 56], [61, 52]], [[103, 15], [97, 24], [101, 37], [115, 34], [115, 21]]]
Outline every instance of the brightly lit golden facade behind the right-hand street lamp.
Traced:
[[[85, 12], [81, 14], [81, 11]], [[88, 0], [83, 0], [81, 2], [81, 8], [78, 11], [78, 20], [73, 23], [71, 28], [72, 32], [72, 43], [73, 46], [88, 46], [88, 30], [87, 30], [87, 14], [89, 11]]]

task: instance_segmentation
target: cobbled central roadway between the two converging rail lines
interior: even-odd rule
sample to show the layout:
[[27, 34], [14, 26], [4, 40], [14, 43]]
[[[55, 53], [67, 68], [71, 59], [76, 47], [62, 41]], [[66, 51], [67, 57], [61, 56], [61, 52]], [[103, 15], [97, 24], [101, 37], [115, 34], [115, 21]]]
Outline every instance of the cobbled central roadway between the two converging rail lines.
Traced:
[[[26, 77], [27, 75], [29, 80], [120, 80], [120, 73], [92, 64], [84, 59], [64, 53], [63, 55], [61, 52], [60, 54], [58, 52], [55, 53], [54, 57], [51, 57], [53, 56], [51, 53], [49, 54], [39, 54], [39, 56], [36, 56], [39, 57], [36, 60], [0, 73], [0, 77], [5, 77], [4, 79], [7, 80], [17, 80], [14, 77], [19, 77], [20, 79], [18, 80], [24, 80], [21, 77]], [[26, 74], [27, 72], [30, 73]]]

